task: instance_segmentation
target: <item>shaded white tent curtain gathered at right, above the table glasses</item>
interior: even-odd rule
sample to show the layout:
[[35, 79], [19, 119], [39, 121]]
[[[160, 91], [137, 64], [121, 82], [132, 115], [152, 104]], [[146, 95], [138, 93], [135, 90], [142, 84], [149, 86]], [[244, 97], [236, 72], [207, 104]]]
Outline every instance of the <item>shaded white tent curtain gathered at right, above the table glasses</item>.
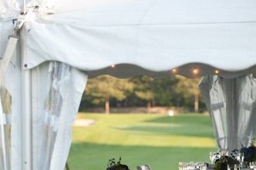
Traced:
[[233, 150], [248, 146], [256, 136], [254, 74], [230, 79], [206, 76], [199, 86], [212, 117], [219, 148]]

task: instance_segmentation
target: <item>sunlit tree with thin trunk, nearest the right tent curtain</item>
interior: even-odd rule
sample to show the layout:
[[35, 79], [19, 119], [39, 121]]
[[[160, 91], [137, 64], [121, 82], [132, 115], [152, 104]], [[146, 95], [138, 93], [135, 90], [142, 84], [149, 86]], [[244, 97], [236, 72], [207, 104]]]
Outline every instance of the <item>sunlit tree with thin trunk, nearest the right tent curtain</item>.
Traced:
[[199, 78], [189, 79], [183, 76], [176, 76], [179, 82], [177, 89], [185, 98], [191, 98], [194, 96], [194, 112], [199, 111], [199, 98], [200, 98], [200, 89], [199, 89]]

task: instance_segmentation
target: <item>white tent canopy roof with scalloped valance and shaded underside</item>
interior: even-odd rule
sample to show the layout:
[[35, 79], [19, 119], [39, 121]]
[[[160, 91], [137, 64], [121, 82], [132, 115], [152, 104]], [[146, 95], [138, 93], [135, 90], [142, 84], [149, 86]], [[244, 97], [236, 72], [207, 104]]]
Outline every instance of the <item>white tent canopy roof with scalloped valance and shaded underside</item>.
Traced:
[[[255, 69], [253, 0], [51, 0], [28, 4], [33, 5], [39, 9], [24, 28], [25, 69], [51, 60], [87, 71], [89, 77], [158, 77], [169, 75], [172, 69], [197, 77], [215, 74], [218, 69], [221, 76], [230, 78]], [[1, 35], [1, 39], [7, 36]], [[192, 74], [195, 67], [199, 69], [196, 75]]]

